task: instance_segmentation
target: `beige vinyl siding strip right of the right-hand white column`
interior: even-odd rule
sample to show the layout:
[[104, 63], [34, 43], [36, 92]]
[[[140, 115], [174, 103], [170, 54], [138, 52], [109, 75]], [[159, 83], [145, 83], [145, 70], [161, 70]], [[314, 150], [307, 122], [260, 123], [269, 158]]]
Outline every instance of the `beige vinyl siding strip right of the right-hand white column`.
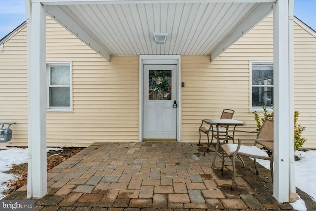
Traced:
[[306, 148], [316, 147], [316, 33], [311, 35], [294, 24], [295, 110], [298, 123], [305, 127], [302, 134]]

